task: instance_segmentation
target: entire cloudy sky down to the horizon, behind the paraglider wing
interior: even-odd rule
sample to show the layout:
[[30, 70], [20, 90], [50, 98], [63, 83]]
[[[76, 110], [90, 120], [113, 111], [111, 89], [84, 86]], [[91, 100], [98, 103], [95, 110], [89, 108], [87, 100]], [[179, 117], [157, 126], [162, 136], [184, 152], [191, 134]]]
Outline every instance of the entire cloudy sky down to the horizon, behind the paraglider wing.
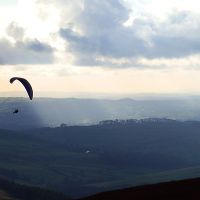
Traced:
[[0, 93], [200, 94], [197, 0], [0, 0]]

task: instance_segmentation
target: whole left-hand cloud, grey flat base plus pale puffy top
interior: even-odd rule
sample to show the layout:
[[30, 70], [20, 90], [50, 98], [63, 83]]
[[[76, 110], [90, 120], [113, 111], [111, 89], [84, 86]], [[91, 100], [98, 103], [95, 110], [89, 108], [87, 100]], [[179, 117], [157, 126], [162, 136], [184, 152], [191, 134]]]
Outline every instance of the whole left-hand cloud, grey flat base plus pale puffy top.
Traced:
[[39, 39], [30, 38], [26, 29], [12, 21], [0, 38], [0, 65], [52, 64], [55, 49]]

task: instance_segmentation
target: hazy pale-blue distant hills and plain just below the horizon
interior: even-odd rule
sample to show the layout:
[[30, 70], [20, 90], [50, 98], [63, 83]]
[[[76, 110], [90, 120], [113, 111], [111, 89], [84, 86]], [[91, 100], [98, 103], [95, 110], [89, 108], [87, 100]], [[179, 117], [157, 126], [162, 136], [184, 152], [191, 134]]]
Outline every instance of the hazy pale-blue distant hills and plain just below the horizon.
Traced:
[[[18, 108], [19, 113], [13, 114]], [[68, 125], [91, 125], [102, 120], [170, 118], [200, 120], [200, 98], [152, 100], [0, 98], [0, 128], [27, 129]]]

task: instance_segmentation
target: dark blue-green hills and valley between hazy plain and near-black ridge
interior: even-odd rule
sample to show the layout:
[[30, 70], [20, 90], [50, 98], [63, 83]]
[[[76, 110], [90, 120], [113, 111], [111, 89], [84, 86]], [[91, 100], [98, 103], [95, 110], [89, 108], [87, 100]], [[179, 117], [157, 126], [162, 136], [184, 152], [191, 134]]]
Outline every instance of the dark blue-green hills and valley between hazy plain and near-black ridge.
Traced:
[[[177, 128], [179, 126], [170, 126], [169, 130], [162, 126], [129, 127], [127, 130], [124, 126], [47, 128], [24, 134], [0, 130], [0, 176], [73, 196], [200, 176], [200, 163], [196, 163], [200, 157], [199, 125], [192, 125], [193, 130], [190, 126], [181, 129]], [[91, 153], [86, 154], [87, 149], [92, 150]], [[122, 149], [138, 153], [151, 150], [144, 158], [154, 157], [156, 154], [152, 152], [161, 149], [165, 155], [174, 154], [175, 158], [185, 156], [189, 164], [174, 170], [142, 169], [134, 163], [128, 166], [110, 162], [110, 157], [105, 159], [111, 152], [120, 160], [126, 155], [125, 152], [118, 157]], [[189, 166], [191, 161], [194, 161], [193, 167]]]

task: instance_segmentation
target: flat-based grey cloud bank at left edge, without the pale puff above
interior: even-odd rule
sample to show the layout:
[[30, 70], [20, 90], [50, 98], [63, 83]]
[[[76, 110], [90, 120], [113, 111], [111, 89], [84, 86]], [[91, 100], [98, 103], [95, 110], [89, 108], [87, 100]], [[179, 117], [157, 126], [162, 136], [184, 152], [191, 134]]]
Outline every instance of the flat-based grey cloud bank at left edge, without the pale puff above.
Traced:
[[48, 64], [53, 63], [53, 49], [37, 40], [10, 43], [0, 40], [0, 64]]

